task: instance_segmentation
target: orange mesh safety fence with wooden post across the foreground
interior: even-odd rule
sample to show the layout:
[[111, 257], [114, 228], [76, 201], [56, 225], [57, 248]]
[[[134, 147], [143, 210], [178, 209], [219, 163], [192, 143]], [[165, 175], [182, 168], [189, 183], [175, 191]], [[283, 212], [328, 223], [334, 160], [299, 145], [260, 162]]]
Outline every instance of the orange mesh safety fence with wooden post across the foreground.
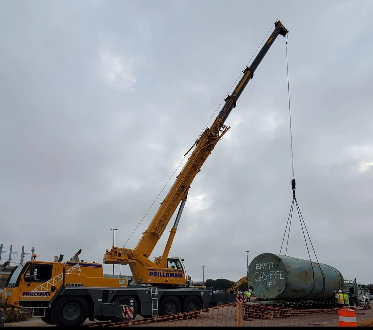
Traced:
[[[352, 308], [352, 307], [350, 307]], [[338, 311], [341, 308], [330, 309], [297, 309], [270, 307], [257, 303], [236, 302], [233, 304], [211, 307], [199, 312], [182, 313], [172, 316], [157, 318], [142, 318], [137, 316], [135, 320], [118, 323], [99, 323], [95, 326], [108, 327], [147, 327], [147, 326], [275, 326], [275, 327], [299, 327], [299, 326], [324, 326], [338, 327]], [[355, 310], [357, 326], [373, 326], [372, 305], [364, 305], [352, 308]]]

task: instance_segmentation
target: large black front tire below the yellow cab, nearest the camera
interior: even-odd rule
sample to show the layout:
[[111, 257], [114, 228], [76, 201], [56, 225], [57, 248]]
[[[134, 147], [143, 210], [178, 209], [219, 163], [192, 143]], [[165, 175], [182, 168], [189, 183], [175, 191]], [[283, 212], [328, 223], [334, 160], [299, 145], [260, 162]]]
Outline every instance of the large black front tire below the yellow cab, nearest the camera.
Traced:
[[51, 318], [57, 327], [80, 327], [87, 320], [89, 306], [80, 296], [62, 297], [51, 309]]

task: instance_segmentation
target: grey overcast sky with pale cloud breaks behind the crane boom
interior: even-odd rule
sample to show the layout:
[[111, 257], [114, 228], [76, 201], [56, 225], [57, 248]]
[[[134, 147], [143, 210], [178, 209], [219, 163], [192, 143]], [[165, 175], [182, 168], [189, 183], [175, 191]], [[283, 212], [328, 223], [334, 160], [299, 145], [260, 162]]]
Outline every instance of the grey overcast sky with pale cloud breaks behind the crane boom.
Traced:
[[[369, 0], [1, 1], [4, 250], [67, 260], [82, 249], [81, 259], [102, 262], [110, 228], [123, 246], [280, 19], [304, 221], [319, 262], [373, 281], [372, 13]], [[292, 201], [282, 36], [226, 124], [170, 253], [193, 279], [205, 266], [205, 279], [238, 280], [245, 250], [249, 262], [279, 253]], [[288, 255], [308, 259], [297, 217]]]

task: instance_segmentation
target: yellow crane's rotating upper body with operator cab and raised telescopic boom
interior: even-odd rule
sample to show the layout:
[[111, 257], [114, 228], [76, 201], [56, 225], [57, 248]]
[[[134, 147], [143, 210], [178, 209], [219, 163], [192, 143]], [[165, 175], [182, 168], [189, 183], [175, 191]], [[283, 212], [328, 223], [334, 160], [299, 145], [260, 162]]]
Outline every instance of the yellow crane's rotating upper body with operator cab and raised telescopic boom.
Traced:
[[[195, 147], [180, 174], [176, 177], [175, 183], [154, 215], [153, 220], [150, 222], [145, 232], [142, 233], [142, 237], [135, 249], [113, 246], [110, 250], [106, 250], [103, 263], [129, 265], [134, 281], [137, 283], [175, 286], [187, 285], [186, 272], [183, 264], [184, 259], [169, 257], [169, 252], [184, 209], [190, 185], [197, 173], [200, 172], [203, 163], [207, 160], [207, 157], [209, 157], [217, 142], [230, 128], [230, 126], [226, 126], [224, 123], [232, 109], [236, 106], [236, 102], [244, 91], [247, 83], [253, 78], [254, 71], [261, 60], [263, 60], [264, 55], [266, 55], [278, 35], [285, 36], [287, 33], [288, 30], [280, 21], [275, 22], [275, 30], [263, 45], [250, 67], [246, 67], [245, 70], [242, 71], [243, 75], [239, 83], [232, 94], [226, 97], [225, 104], [211, 127], [206, 128], [186, 153], [188, 154], [189, 151]], [[179, 211], [175, 223], [171, 228], [163, 254], [151, 261], [149, 259], [150, 254], [162, 237], [167, 224], [171, 220], [179, 204]], [[175, 269], [171, 268], [172, 266], [175, 266]]]

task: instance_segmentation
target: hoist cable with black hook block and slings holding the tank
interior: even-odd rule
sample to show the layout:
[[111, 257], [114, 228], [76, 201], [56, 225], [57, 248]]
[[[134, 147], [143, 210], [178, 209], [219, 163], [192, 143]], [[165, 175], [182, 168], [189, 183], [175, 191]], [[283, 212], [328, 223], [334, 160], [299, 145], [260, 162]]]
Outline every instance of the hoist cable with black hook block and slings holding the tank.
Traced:
[[[311, 268], [312, 268], [313, 288], [312, 288], [312, 290], [310, 291], [310, 293], [308, 295], [310, 295], [313, 292], [313, 289], [315, 288], [315, 272], [314, 272], [314, 269], [313, 269], [313, 263], [312, 263], [312, 260], [311, 260], [310, 250], [308, 249], [307, 238], [305, 236], [306, 233], [307, 233], [308, 240], [310, 241], [313, 253], [315, 255], [315, 258], [316, 258], [316, 261], [317, 261], [317, 265], [319, 266], [321, 274], [322, 274], [322, 277], [323, 277], [323, 288], [322, 288], [322, 291], [320, 292], [320, 294], [323, 294], [323, 296], [325, 296], [326, 295], [326, 291], [325, 291], [325, 275], [324, 275], [323, 270], [321, 269], [321, 266], [320, 266], [320, 263], [319, 263], [319, 259], [317, 258], [316, 251], [315, 251], [315, 249], [313, 247], [310, 234], [308, 233], [307, 226], [305, 225], [302, 212], [301, 212], [301, 210], [299, 208], [298, 201], [297, 201], [297, 198], [295, 196], [296, 185], [295, 185], [295, 176], [294, 176], [293, 134], [292, 134], [292, 127], [291, 127], [290, 83], [289, 83], [289, 62], [288, 62], [288, 38], [289, 38], [288, 35], [286, 35], [286, 38], [285, 38], [285, 50], [286, 50], [286, 73], [287, 73], [287, 80], [288, 80], [289, 126], [290, 126], [290, 148], [291, 148], [291, 169], [292, 169], [291, 188], [293, 190], [293, 199], [292, 199], [291, 206], [290, 206], [288, 221], [286, 222], [285, 232], [283, 233], [283, 238], [282, 238], [282, 243], [281, 243], [281, 248], [280, 248], [280, 253], [279, 254], [281, 255], [281, 251], [282, 251], [282, 247], [283, 247], [283, 242], [285, 240], [286, 231], [288, 231], [288, 237], [287, 237], [287, 241], [286, 241], [285, 256], [287, 255], [287, 252], [288, 252], [291, 221], [292, 221], [294, 204], [295, 204], [295, 206], [297, 208], [297, 213], [298, 213], [299, 221], [300, 221], [300, 224], [301, 224], [302, 232], [303, 232], [305, 246], [307, 248], [308, 257], [309, 257], [309, 260], [310, 260], [310, 263], [311, 263]], [[288, 228], [288, 226], [289, 226], [289, 228]], [[320, 294], [318, 294], [317, 296], [319, 296]]]

